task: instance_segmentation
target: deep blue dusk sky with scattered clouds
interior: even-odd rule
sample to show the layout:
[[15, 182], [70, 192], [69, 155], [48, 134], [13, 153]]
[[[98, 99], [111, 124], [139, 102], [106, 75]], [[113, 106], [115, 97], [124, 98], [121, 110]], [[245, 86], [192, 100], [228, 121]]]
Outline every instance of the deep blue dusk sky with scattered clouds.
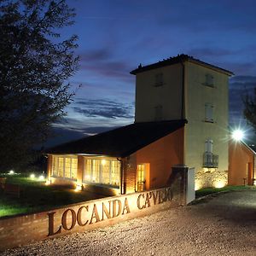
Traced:
[[[246, 125], [242, 100], [256, 85], [254, 0], [67, 0], [79, 36], [76, 95], [49, 146], [134, 122], [131, 70], [178, 54], [230, 70], [230, 125]], [[79, 84], [81, 85], [79, 87]]]

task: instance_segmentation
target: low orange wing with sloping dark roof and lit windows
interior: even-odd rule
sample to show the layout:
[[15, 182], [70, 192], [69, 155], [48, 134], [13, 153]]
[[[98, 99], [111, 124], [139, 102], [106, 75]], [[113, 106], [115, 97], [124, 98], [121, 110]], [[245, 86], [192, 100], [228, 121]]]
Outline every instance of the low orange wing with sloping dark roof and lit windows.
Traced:
[[185, 123], [136, 123], [50, 148], [48, 181], [105, 195], [164, 187], [183, 164]]

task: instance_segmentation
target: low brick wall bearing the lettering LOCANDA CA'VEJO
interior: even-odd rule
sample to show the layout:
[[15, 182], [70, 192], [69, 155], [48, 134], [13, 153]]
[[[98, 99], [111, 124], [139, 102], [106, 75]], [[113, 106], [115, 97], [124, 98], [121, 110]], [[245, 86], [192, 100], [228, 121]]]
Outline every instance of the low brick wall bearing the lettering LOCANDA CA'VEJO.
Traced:
[[167, 188], [85, 201], [15, 218], [0, 218], [0, 251], [183, 205], [185, 184], [186, 169], [180, 169]]

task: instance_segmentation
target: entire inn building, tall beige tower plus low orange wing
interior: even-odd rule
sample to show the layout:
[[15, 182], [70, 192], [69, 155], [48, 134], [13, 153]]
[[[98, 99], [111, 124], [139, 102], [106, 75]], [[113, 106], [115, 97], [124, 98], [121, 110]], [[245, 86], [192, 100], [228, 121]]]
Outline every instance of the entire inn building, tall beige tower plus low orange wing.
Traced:
[[135, 123], [48, 151], [48, 180], [125, 194], [166, 186], [195, 168], [195, 189], [228, 182], [230, 73], [188, 55], [131, 71]]

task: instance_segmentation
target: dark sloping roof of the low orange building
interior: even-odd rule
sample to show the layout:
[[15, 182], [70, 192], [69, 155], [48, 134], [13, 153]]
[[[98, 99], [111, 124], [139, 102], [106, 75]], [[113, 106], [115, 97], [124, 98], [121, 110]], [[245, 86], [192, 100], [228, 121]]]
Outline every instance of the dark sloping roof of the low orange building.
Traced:
[[126, 125], [95, 136], [49, 148], [46, 154], [97, 154], [125, 157], [177, 131], [187, 120], [144, 122]]

